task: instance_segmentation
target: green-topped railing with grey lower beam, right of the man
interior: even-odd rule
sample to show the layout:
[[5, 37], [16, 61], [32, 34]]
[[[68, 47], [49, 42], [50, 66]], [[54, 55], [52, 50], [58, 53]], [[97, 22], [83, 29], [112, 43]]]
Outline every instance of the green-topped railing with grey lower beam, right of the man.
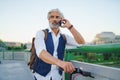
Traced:
[[120, 68], [83, 62], [84, 60], [75, 61], [76, 53], [120, 54], [120, 44], [82, 45], [75, 49], [67, 49], [65, 55], [66, 61], [71, 61], [76, 68], [90, 72], [94, 76], [91, 78], [74, 74], [70, 79], [70, 74], [65, 74], [65, 80], [120, 80]]

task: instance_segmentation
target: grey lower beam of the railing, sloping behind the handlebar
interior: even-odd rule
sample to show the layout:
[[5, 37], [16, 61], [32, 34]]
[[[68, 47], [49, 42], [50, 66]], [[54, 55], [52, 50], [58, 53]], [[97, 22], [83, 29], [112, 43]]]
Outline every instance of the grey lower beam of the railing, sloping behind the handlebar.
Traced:
[[112, 68], [112, 67], [79, 62], [79, 61], [74, 61], [74, 60], [71, 62], [73, 63], [75, 67], [82, 68], [82, 70], [91, 72], [92, 76], [94, 76], [94, 78], [78, 76], [80, 78], [79, 80], [120, 80], [120, 69], [119, 68]]

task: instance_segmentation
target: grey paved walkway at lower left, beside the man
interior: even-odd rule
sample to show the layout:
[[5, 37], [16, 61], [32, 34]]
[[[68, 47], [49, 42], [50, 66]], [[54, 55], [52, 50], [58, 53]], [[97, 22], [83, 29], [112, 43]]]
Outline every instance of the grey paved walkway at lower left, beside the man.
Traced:
[[34, 77], [24, 61], [2, 60], [0, 80], [34, 80]]

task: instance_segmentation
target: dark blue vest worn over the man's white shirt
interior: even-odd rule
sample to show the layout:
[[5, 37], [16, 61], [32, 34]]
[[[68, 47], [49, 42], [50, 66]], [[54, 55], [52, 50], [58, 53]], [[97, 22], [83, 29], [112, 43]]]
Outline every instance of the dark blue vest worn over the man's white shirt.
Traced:
[[[53, 55], [54, 52], [54, 44], [52, 40], [52, 35], [50, 32], [48, 32], [47, 39], [45, 41], [46, 49], [47, 51]], [[64, 57], [64, 51], [65, 51], [65, 44], [66, 40], [63, 38], [63, 36], [60, 34], [58, 48], [57, 48], [57, 56], [60, 60], [63, 60]], [[43, 62], [41, 59], [38, 60], [38, 65], [36, 67], [36, 72], [39, 73], [42, 76], [46, 76], [51, 70], [51, 64]], [[62, 71], [59, 70], [60, 75], [62, 74]]]

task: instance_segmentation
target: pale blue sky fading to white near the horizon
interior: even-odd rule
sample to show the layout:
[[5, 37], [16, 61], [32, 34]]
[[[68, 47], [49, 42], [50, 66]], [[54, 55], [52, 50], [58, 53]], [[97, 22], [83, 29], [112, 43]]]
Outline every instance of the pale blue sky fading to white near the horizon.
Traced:
[[31, 42], [37, 31], [49, 27], [47, 13], [56, 8], [86, 42], [104, 31], [120, 35], [120, 0], [0, 0], [0, 39]]

